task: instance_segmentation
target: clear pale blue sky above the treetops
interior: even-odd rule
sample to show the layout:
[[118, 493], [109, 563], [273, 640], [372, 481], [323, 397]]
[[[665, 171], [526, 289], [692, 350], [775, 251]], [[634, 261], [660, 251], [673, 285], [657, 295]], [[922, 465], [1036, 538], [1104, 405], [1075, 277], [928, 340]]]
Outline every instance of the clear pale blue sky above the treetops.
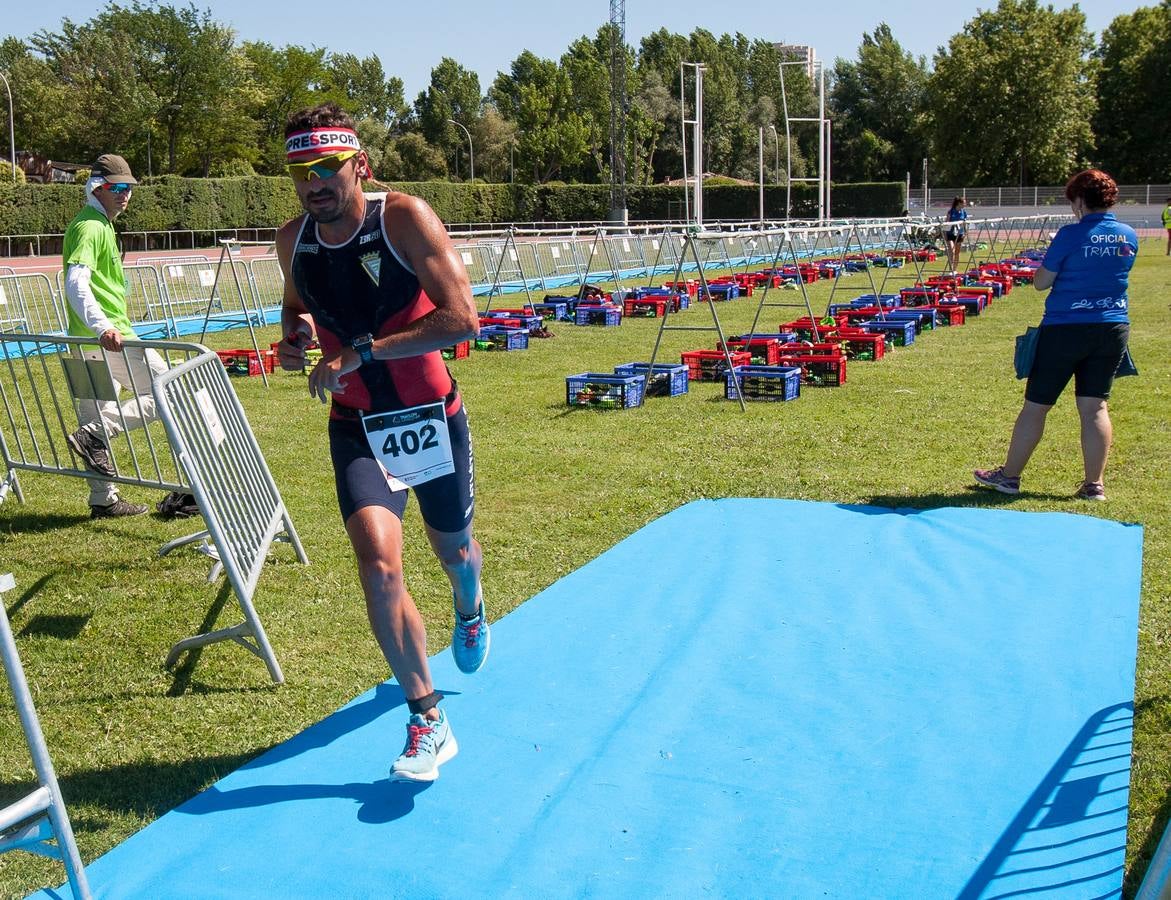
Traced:
[[[183, 6], [183, 0], [172, 0]], [[1116, 15], [1157, 0], [1095, 0], [1082, 4], [1091, 32], [1101, 32]], [[129, 5], [129, 4], [126, 4]], [[763, 0], [673, 0], [672, 2], [626, 2], [626, 42], [639, 40], [659, 28], [677, 34], [706, 28], [715, 35], [742, 33], [749, 39], [810, 44], [828, 63], [843, 56], [854, 59], [864, 32], [885, 21], [895, 39], [930, 63], [936, 49], [959, 32], [981, 8], [995, 2], [908, 2], [888, 4], [881, 9], [872, 0], [836, 0], [779, 4]], [[1055, 0], [1053, 6], [1073, 4]], [[507, 70], [522, 50], [559, 57], [571, 41], [597, 33], [609, 21], [607, 0], [431, 0], [431, 2], [329, 4], [322, 0], [196, 0], [199, 9], [235, 28], [241, 40], [267, 41], [278, 47], [294, 43], [322, 47], [358, 56], [377, 54], [388, 75], [400, 77], [406, 99], [424, 90], [431, 69], [451, 56], [480, 76], [487, 90], [498, 71]], [[55, 0], [36, 4], [13, 0], [0, 23], [0, 35], [27, 37], [41, 28], [56, 30], [62, 18], [83, 22], [103, 5]]]

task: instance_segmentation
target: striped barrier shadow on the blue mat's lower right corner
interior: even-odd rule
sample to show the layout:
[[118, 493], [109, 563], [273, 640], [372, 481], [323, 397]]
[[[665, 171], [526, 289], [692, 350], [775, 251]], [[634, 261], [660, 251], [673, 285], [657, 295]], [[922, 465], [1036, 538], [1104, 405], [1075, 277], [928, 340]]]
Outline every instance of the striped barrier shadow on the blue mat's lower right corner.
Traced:
[[1112, 884], [1127, 852], [1134, 706], [1098, 710], [1021, 806], [957, 900]]

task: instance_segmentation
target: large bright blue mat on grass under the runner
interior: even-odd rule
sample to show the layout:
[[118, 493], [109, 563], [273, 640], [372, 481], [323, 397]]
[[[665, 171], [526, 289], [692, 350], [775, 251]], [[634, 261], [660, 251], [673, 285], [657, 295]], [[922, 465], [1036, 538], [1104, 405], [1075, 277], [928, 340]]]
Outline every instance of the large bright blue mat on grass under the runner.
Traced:
[[1080, 515], [689, 503], [493, 625], [478, 675], [433, 659], [433, 785], [386, 781], [388, 682], [95, 895], [1118, 895], [1141, 556]]

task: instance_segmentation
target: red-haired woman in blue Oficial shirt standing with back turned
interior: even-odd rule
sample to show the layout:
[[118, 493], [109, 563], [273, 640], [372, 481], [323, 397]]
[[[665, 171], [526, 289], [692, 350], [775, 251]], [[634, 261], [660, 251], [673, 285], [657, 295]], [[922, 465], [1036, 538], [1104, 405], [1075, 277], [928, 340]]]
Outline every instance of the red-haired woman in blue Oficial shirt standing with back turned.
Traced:
[[1033, 282], [1049, 296], [1008, 458], [999, 468], [973, 474], [986, 487], [1020, 493], [1021, 472], [1041, 441], [1045, 418], [1073, 378], [1086, 467], [1076, 496], [1105, 500], [1102, 479], [1114, 438], [1107, 399], [1130, 334], [1127, 288], [1138, 235], [1109, 212], [1118, 186], [1105, 172], [1077, 173], [1066, 197], [1077, 221], [1054, 236]]

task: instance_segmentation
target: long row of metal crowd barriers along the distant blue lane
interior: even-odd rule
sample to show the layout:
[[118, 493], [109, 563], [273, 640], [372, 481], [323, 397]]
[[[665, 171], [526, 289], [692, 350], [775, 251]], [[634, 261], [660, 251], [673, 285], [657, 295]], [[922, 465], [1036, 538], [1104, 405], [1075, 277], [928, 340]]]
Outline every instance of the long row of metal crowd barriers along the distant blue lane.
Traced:
[[[1066, 215], [1000, 217], [968, 219], [968, 259], [979, 255], [978, 245], [1019, 248], [1047, 242], [1048, 233], [1068, 221]], [[833, 224], [762, 222], [708, 224], [710, 235], [698, 253], [683, 260], [684, 272], [697, 268], [748, 269], [767, 263], [781, 241], [802, 259], [841, 256], [850, 228], [865, 236], [864, 252], [882, 252], [900, 236], [918, 234], [941, 246], [946, 227], [939, 219], [842, 220]], [[556, 293], [586, 282], [621, 286], [624, 279], [669, 275], [683, 259], [689, 229], [672, 224], [479, 231], [456, 235], [456, 250], [467, 269], [473, 293], [498, 296], [534, 290]], [[148, 256], [126, 266], [128, 302], [141, 337], [177, 337], [199, 332], [203, 317], [221, 328], [262, 324], [274, 320], [283, 296], [283, 276], [275, 256], [238, 257], [246, 247], [271, 247], [263, 241], [222, 241], [213, 262], [206, 255]], [[788, 245], [787, 245], [788, 246]], [[0, 332], [56, 334], [64, 330], [64, 298], [61, 273], [56, 290], [44, 276], [4, 274], [0, 268]]]

